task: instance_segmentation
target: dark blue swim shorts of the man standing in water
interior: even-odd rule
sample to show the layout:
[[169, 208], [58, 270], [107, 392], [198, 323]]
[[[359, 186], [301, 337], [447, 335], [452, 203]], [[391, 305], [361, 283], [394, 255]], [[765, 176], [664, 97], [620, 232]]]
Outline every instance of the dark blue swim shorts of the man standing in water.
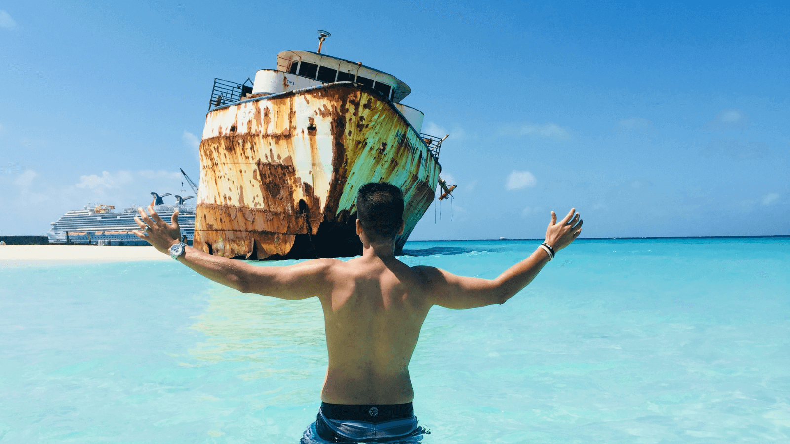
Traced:
[[380, 405], [322, 402], [302, 442], [316, 442], [311, 440], [314, 435], [325, 442], [396, 442], [422, 433], [411, 402]]

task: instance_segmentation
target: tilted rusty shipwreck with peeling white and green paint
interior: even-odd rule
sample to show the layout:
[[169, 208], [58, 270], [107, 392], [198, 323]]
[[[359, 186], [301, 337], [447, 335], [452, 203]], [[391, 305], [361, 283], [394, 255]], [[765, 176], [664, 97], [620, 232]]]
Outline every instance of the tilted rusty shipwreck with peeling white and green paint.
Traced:
[[404, 192], [400, 254], [435, 198], [444, 140], [420, 134], [423, 113], [401, 103], [411, 88], [321, 46], [281, 52], [247, 83], [214, 82], [194, 246], [259, 260], [360, 254], [357, 190], [386, 181]]

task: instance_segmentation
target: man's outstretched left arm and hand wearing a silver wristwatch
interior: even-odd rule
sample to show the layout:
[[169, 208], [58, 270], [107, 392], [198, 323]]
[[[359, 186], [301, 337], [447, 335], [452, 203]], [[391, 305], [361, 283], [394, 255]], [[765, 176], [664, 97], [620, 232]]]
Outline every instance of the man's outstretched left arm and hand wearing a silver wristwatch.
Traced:
[[[172, 224], [167, 224], [154, 211], [148, 208], [151, 216], [138, 209], [139, 217], [134, 219], [145, 231], [134, 231], [140, 239], [145, 240], [162, 253], [169, 254], [170, 246], [179, 243], [178, 211], [173, 213]], [[320, 296], [329, 286], [326, 284], [329, 268], [333, 259], [316, 259], [286, 267], [257, 267], [246, 262], [214, 256], [205, 251], [187, 246], [185, 253], [178, 261], [194, 269], [197, 273], [210, 280], [235, 288], [240, 292], [258, 293], [280, 299], [307, 299]]]

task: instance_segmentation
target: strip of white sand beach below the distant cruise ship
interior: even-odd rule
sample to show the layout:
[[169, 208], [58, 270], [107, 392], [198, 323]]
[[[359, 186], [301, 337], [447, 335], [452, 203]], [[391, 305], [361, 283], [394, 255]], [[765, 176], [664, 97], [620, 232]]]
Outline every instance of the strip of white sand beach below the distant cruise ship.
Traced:
[[152, 246], [0, 245], [0, 266], [172, 261]]

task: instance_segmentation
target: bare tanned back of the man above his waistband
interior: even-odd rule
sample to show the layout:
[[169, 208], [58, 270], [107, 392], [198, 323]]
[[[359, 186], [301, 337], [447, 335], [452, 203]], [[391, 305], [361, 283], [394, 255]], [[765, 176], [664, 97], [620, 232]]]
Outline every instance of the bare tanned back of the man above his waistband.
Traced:
[[395, 258], [333, 261], [321, 297], [329, 367], [322, 401], [403, 404], [414, 398], [408, 363], [431, 304], [419, 271]]

